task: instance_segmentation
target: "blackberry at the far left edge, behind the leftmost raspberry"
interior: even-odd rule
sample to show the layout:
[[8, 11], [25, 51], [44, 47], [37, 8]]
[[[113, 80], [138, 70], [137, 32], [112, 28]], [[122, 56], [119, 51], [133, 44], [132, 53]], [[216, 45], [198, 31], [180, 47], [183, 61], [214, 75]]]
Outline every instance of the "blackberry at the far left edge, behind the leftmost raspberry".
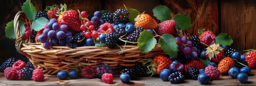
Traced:
[[16, 62], [16, 58], [9, 58], [8, 60], [6, 60], [1, 66], [0, 66], [0, 71], [4, 72], [6, 67], [11, 67], [13, 66], [13, 64]]

